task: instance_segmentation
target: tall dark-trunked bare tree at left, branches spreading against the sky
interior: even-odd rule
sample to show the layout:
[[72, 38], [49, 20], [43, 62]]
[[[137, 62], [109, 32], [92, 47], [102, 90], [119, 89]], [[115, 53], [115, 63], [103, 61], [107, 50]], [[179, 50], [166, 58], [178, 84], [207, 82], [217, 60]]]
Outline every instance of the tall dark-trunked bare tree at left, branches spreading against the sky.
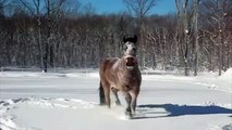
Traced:
[[[40, 61], [42, 72], [47, 72], [48, 53], [50, 50], [50, 65], [53, 66], [53, 47], [50, 44], [50, 29], [51, 29], [51, 13], [58, 10], [65, 0], [20, 0], [21, 3], [36, 18], [38, 26], [38, 44], [40, 50]], [[44, 5], [44, 6], [42, 6]], [[42, 10], [46, 8], [46, 12]], [[47, 42], [41, 42], [41, 18], [47, 17]], [[49, 49], [50, 48], [50, 49]]]

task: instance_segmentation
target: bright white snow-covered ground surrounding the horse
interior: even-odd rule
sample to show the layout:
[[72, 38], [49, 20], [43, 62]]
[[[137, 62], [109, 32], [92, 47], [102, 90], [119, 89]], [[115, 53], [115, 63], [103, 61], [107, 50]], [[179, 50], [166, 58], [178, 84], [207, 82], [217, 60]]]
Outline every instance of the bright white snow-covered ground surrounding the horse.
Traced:
[[[160, 74], [160, 73], [158, 73]], [[0, 73], [0, 130], [232, 130], [232, 69], [143, 75], [133, 119], [98, 105], [94, 73]], [[113, 100], [113, 99], [112, 99]]]

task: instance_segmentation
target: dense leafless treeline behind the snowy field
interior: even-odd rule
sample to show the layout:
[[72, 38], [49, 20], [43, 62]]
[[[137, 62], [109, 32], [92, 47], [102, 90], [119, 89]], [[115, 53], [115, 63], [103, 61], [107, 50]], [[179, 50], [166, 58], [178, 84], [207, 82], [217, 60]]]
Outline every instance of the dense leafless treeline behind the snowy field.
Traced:
[[69, 0], [5, 1], [0, 1], [0, 66], [97, 68], [105, 57], [122, 55], [123, 36], [138, 35], [143, 69], [220, 75], [232, 67], [231, 0], [175, 0], [176, 12], [167, 15], [97, 14], [90, 4], [70, 8]]

